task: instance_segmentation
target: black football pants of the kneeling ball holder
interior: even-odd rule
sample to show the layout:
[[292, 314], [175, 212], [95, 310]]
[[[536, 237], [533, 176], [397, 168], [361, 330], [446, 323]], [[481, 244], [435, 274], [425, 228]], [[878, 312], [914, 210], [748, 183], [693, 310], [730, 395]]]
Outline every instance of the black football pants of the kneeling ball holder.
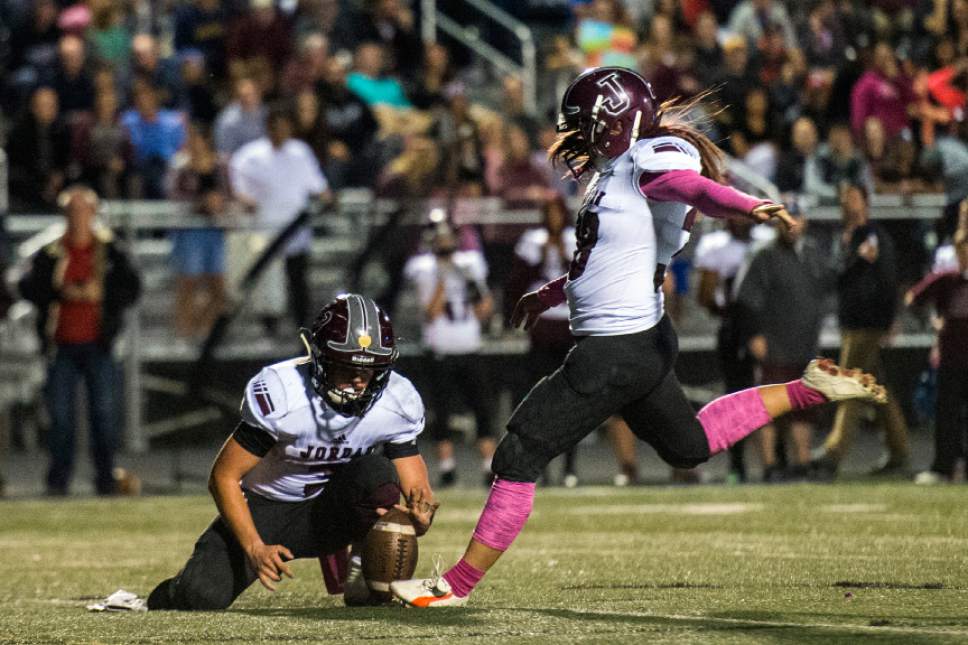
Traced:
[[[266, 544], [282, 544], [297, 558], [334, 553], [363, 539], [400, 499], [396, 468], [367, 455], [342, 465], [323, 492], [304, 502], [278, 502], [247, 491], [256, 529]], [[148, 609], [225, 609], [258, 578], [221, 516], [202, 533], [185, 567], [148, 597]]]

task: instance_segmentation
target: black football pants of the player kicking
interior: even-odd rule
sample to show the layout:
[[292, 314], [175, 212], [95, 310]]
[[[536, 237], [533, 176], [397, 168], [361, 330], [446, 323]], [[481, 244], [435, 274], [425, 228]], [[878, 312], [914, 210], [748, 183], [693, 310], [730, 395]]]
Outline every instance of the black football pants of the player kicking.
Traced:
[[673, 366], [679, 351], [668, 316], [646, 331], [584, 336], [564, 364], [541, 379], [508, 421], [494, 454], [502, 479], [533, 482], [613, 414], [676, 468], [709, 459], [709, 442]]

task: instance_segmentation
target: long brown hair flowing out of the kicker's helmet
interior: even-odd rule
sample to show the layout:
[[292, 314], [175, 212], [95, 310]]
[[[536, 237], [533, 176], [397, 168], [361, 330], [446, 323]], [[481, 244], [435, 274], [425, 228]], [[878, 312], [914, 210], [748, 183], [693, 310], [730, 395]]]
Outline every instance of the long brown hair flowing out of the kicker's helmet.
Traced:
[[[699, 129], [699, 125], [714, 115], [697, 118], [692, 114], [712, 94], [712, 91], [706, 90], [689, 100], [674, 98], [663, 102], [659, 106], [659, 126], [641, 138], [671, 136], [688, 141], [699, 151], [702, 174], [713, 181], [722, 181], [726, 155]], [[555, 166], [568, 167], [576, 175], [580, 175], [591, 161], [585, 137], [579, 130], [559, 132], [554, 143], [548, 147], [548, 159]]]

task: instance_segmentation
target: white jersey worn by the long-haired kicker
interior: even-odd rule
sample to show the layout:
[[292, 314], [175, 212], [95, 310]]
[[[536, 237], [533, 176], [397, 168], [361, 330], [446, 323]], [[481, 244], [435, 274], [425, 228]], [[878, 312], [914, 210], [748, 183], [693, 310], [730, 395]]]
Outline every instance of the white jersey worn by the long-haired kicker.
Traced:
[[679, 137], [642, 139], [592, 177], [565, 286], [572, 334], [634, 334], [662, 318], [656, 267], [668, 265], [689, 241], [690, 207], [647, 199], [639, 179], [666, 170], [701, 172], [699, 151]]

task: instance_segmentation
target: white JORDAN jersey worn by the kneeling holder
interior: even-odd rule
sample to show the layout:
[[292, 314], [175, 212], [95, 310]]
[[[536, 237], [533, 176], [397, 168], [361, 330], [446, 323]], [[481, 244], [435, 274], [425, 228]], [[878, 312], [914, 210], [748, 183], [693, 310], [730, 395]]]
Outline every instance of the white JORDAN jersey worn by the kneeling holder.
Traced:
[[385, 443], [416, 440], [424, 407], [416, 388], [391, 372], [389, 383], [362, 417], [343, 416], [316, 394], [308, 358], [265, 367], [245, 387], [242, 420], [265, 430], [275, 445], [242, 480], [263, 497], [299, 502], [319, 495], [341, 464]]

